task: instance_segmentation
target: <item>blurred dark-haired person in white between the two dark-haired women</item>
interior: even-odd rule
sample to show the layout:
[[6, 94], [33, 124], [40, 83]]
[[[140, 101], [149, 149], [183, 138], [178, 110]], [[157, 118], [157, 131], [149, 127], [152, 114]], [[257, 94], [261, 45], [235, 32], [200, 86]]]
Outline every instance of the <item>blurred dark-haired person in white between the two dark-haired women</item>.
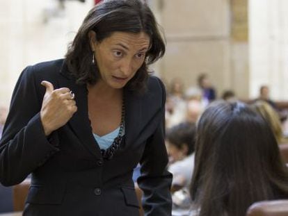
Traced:
[[168, 129], [166, 146], [173, 174], [172, 191], [188, 187], [191, 182], [194, 163], [195, 124], [183, 122]]

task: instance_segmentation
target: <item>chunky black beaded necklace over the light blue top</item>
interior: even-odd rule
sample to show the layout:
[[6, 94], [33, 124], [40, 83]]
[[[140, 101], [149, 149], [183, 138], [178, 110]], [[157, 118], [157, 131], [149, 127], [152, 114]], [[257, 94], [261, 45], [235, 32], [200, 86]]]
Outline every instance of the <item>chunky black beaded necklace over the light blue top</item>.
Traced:
[[107, 160], [111, 160], [115, 154], [115, 152], [120, 148], [120, 145], [122, 143], [122, 140], [124, 138], [123, 130], [125, 127], [125, 100], [124, 95], [122, 97], [122, 111], [121, 111], [121, 122], [120, 122], [120, 128], [119, 133], [113, 140], [113, 143], [108, 149], [101, 149], [102, 157]]

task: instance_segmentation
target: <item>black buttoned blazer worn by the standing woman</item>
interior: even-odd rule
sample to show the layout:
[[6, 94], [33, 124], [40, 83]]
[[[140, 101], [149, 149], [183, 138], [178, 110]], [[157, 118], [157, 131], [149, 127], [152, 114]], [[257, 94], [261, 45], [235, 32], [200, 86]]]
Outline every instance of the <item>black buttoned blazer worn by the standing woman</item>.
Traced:
[[[77, 113], [47, 138], [40, 120], [46, 80], [75, 94]], [[151, 76], [139, 95], [125, 90], [125, 140], [111, 160], [102, 158], [88, 119], [86, 85], [76, 85], [63, 60], [26, 67], [17, 81], [0, 141], [0, 180], [20, 183], [32, 173], [24, 215], [138, 215], [132, 181], [147, 215], [171, 215], [168, 156], [164, 143], [165, 89]]]

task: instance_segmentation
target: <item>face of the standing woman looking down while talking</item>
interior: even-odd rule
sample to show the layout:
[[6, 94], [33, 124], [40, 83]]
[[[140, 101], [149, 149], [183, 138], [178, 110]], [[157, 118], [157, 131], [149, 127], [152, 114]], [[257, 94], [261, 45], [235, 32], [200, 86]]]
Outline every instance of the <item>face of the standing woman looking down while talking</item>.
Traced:
[[123, 88], [143, 65], [150, 38], [147, 34], [115, 32], [102, 42], [97, 42], [91, 31], [90, 45], [95, 51], [100, 82], [111, 88]]

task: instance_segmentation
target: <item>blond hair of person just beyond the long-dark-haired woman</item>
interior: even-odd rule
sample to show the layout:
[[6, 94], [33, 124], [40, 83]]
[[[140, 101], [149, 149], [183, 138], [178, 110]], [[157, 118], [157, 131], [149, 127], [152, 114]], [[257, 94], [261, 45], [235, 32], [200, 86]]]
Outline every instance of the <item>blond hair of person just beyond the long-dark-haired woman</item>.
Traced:
[[266, 103], [266, 101], [255, 101], [251, 107], [269, 123], [278, 144], [288, 143], [288, 139], [284, 138], [283, 135], [280, 117], [269, 103]]

